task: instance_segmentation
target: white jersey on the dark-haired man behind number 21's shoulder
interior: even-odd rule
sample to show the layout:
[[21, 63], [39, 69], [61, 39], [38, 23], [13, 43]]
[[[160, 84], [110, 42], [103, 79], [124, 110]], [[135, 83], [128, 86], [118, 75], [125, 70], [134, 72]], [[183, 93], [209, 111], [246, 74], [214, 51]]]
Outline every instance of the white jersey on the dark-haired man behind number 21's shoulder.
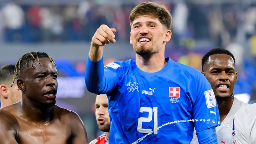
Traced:
[[[233, 137], [232, 137], [234, 115], [238, 111], [238, 109], [245, 107], [247, 105], [249, 104], [239, 101], [236, 97], [234, 97], [234, 102], [226, 118], [223, 120], [223, 122], [221, 122], [220, 126], [216, 127], [218, 144], [234, 144]], [[194, 131], [194, 137], [190, 144], [198, 144], [195, 131]]]

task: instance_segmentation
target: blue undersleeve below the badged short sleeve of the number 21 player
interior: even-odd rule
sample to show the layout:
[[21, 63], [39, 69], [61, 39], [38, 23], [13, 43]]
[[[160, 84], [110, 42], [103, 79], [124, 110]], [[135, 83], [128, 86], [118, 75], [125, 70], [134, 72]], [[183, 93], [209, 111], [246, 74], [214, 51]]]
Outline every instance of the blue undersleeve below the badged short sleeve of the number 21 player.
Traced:
[[215, 126], [197, 132], [199, 144], [218, 144]]

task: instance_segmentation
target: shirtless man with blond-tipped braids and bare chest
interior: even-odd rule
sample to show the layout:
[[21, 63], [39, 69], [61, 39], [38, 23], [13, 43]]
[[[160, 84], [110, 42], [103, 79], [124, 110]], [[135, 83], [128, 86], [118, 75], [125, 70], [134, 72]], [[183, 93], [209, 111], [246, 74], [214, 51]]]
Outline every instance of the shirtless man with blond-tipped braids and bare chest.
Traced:
[[0, 110], [0, 144], [87, 144], [80, 117], [55, 105], [57, 76], [46, 53], [31, 52], [18, 60], [14, 81], [22, 100]]

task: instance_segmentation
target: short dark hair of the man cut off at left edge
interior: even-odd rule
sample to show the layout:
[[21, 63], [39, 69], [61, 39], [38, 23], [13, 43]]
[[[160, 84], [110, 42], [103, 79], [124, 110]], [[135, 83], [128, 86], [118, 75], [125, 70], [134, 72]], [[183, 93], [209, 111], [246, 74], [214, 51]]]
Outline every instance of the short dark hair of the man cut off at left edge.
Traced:
[[[0, 68], [0, 85], [7, 85], [13, 80], [15, 65], [4, 65]], [[11, 85], [9, 85], [11, 86]]]

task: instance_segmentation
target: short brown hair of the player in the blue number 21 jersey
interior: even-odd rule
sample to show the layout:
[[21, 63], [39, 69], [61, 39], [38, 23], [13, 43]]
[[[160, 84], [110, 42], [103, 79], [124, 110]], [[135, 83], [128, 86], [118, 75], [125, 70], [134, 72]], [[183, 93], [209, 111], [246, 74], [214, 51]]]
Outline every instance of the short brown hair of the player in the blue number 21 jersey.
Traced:
[[171, 29], [172, 15], [165, 7], [165, 5], [159, 5], [153, 2], [144, 2], [134, 7], [130, 13], [130, 25], [142, 15], [151, 15], [159, 19], [162, 25], [165, 25], [167, 29]]

